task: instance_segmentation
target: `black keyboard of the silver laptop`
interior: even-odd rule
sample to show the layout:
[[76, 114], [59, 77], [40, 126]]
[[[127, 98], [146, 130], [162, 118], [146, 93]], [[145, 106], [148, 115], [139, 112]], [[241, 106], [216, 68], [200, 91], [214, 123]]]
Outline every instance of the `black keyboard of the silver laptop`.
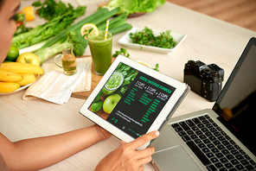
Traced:
[[256, 163], [208, 115], [171, 126], [208, 170], [256, 170]]

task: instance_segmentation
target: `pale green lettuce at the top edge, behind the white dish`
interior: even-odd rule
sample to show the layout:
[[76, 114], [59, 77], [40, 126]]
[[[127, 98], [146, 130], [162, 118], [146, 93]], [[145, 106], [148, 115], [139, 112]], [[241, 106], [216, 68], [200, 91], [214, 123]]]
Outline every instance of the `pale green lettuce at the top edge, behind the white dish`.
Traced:
[[165, 3], [165, 0], [111, 0], [107, 8], [121, 8], [120, 13], [127, 14], [153, 12], [158, 6]]

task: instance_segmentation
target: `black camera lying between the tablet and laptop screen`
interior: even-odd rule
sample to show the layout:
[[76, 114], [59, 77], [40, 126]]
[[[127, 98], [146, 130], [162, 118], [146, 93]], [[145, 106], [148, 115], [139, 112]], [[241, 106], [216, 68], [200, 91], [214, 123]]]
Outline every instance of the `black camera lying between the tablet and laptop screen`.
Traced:
[[214, 102], [222, 87], [224, 70], [221, 67], [210, 64], [206, 65], [200, 60], [189, 60], [184, 67], [184, 82], [191, 90], [203, 98]]

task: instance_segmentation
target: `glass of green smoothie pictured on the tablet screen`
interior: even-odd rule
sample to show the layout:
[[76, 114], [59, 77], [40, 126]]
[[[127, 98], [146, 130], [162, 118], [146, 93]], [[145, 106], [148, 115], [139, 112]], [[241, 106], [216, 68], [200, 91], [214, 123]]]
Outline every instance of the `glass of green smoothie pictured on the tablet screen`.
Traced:
[[106, 85], [104, 85], [102, 92], [105, 96], [108, 96], [115, 92], [120, 85], [124, 82], [124, 75], [119, 71], [115, 71], [112, 73], [112, 76], [106, 81]]

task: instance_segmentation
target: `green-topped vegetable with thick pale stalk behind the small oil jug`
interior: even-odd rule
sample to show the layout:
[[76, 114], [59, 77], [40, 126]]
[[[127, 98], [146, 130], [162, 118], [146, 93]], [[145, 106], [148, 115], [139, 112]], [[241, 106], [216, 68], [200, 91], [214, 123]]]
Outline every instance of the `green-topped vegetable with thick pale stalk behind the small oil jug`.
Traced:
[[61, 53], [62, 46], [64, 44], [73, 45], [73, 52], [75, 56], [81, 56], [85, 53], [88, 41], [86, 41], [79, 31], [68, 31], [64, 37], [64, 41], [58, 41], [53, 46], [45, 49], [39, 49], [35, 51], [35, 54], [40, 58], [40, 63], [42, 64], [45, 60], [53, 56], [54, 54]]

